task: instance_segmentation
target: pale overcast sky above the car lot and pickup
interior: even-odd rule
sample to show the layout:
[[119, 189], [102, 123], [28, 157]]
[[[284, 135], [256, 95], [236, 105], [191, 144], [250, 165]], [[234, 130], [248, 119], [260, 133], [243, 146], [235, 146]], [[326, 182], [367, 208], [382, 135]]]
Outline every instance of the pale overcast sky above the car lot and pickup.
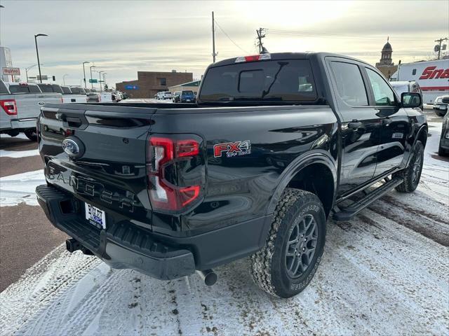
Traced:
[[[217, 60], [255, 53], [255, 29], [267, 28], [270, 52], [329, 51], [375, 64], [389, 37], [393, 60], [433, 55], [449, 35], [449, 1], [20, 1], [0, 0], [1, 45], [13, 65], [36, 63], [42, 74], [80, 85], [81, 63], [95, 62], [107, 82], [137, 79], [137, 71], [192, 71], [212, 62], [210, 13], [215, 11]], [[232, 39], [223, 33], [223, 31]], [[287, 31], [287, 32], [286, 32]], [[29, 71], [36, 76], [36, 67]], [[87, 71], [88, 72], [88, 71]], [[98, 73], [94, 73], [98, 78]]]

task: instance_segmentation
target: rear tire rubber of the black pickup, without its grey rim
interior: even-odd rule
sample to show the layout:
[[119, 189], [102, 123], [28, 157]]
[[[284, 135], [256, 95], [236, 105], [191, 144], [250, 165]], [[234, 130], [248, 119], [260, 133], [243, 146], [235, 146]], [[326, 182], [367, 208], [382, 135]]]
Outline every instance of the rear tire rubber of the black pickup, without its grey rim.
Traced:
[[[286, 266], [286, 248], [295, 223], [307, 216], [313, 216], [318, 229], [315, 252], [304, 272], [293, 279]], [[265, 246], [250, 257], [250, 273], [254, 282], [277, 297], [297, 295], [314, 276], [325, 241], [326, 215], [319, 198], [304, 190], [286, 188], [274, 211]]]

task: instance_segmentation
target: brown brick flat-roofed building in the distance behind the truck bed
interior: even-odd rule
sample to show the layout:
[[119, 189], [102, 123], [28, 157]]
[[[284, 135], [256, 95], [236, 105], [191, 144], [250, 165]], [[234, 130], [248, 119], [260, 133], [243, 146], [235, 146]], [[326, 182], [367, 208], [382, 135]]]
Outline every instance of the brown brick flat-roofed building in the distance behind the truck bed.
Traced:
[[192, 72], [159, 72], [138, 71], [137, 80], [116, 83], [116, 90], [126, 92], [133, 98], [153, 98], [160, 91], [168, 91], [168, 87], [192, 82]]

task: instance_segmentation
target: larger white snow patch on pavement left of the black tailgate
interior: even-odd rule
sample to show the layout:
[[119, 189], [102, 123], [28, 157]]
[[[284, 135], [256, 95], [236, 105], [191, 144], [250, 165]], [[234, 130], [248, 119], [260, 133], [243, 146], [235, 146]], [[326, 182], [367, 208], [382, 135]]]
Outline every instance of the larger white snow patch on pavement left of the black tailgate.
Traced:
[[45, 184], [43, 169], [0, 177], [0, 206], [12, 207], [20, 203], [39, 205], [36, 186]]

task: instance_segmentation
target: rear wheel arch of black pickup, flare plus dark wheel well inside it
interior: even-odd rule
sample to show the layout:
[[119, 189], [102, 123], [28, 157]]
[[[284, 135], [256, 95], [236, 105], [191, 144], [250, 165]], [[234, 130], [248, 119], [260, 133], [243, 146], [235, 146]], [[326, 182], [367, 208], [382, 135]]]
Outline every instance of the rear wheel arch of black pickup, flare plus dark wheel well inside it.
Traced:
[[[319, 179], [314, 179], [314, 176], [319, 176]], [[309, 152], [298, 157], [281, 174], [267, 214], [274, 212], [286, 188], [307, 190], [317, 195], [327, 217], [335, 201], [337, 162], [326, 151]]]

